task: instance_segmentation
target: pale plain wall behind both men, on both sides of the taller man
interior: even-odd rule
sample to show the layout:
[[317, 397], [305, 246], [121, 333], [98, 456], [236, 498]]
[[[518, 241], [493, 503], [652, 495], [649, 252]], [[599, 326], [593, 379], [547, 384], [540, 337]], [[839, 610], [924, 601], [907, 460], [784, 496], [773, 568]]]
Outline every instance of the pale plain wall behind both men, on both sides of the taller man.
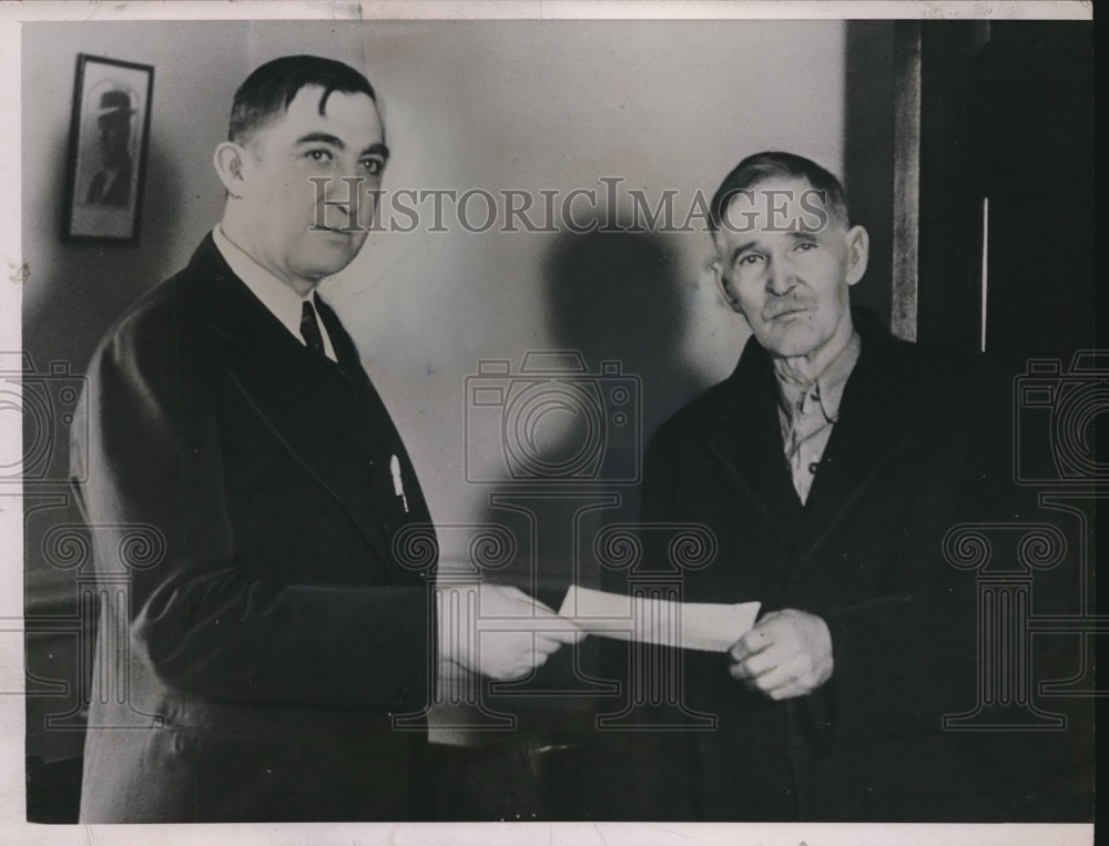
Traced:
[[[59, 237], [78, 52], [156, 68], [136, 246]], [[711, 195], [759, 150], [794, 151], [836, 172], [844, 166], [847, 74], [838, 21], [30, 24], [23, 336], [40, 367], [67, 360], [80, 371], [114, 317], [187, 261], [220, 216], [211, 154], [234, 89], [252, 68], [289, 52], [364, 62], [394, 151], [390, 191], [564, 195], [620, 177], [621, 191], [644, 190], [652, 203], [665, 190], [679, 192], [681, 210], [698, 190]], [[629, 214], [627, 196], [617, 205], [618, 216]], [[325, 286], [405, 434], [441, 524], [485, 514], [490, 488], [466, 481], [467, 449], [485, 463], [501, 455], [496, 427], [472, 432], [467, 444], [466, 378], [479, 359], [519, 365], [528, 350], [551, 348], [580, 349], [591, 369], [619, 359], [642, 377], [645, 437], [725, 376], [746, 337], [709, 279], [702, 232], [496, 228], [374, 233]], [[557, 447], [573, 425], [556, 419], [543, 437]], [[51, 517], [60, 519], [63, 510]], [[29, 521], [29, 613], [72, 594], [72, 575], [42, 563], [37, 531]], [[445, 533], [448, 544], [455, 537]], [[44, 677], [65, 677], [64, 658], [48, 662], [47, 650], [29, 649]], [[42, 703], [31, 701], [29, 753], [51, 744], [43, 754], [79, 748], [79, 735], [61, 745], [40, 735]]]

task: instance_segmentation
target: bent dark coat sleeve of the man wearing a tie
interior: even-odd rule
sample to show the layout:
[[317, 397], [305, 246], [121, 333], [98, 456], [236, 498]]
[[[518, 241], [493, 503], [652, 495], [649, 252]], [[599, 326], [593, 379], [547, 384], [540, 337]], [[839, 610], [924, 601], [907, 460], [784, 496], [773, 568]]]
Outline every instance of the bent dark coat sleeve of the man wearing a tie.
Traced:
[[[174, 317], [125, 320], [93, 357], [73, 427], [87, 431], [71, 455], [87, 467], [77, 490], [98, 573], [122, 560], [131, 577], [132, 649], [199, 699], [423, 707], [435, 643], [426, 590], [287, 583], [236, 559], [211, 356], [190, 347], [186, 367], [183, 334]], [[160, 549], [129, 560], [136, 524]]]

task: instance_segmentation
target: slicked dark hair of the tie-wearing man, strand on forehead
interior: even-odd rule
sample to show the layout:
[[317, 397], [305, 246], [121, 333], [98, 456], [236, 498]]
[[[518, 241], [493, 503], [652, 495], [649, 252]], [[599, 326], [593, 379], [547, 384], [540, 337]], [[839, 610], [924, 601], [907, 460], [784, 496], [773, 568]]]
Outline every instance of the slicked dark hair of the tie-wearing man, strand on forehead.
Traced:
[[235, 92], [231, 106], [227, 139], [244, 143], [276, 115], [288, 111], [288, 104], [305, 85], [324, 90], [319, 113], [327, 108], [327, 98], [338, 91], [344, 94], [368, 94], [377, 102], [374, 86], [348, 64], [318, 55], [285, 55], [256, 69]]

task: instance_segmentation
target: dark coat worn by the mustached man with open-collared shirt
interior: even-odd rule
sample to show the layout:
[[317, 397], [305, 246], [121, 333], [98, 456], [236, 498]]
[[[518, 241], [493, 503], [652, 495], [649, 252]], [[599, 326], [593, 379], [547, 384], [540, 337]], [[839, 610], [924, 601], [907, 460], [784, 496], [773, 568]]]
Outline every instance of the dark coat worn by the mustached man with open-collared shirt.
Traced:
[[[658, 740], [658, 765], [642, 767], [653, 774], [642, 794], [655, 797], [643, 813], [1066, 813], [1049, 797], [1076, 783], [1037, 773], [1042, 762], [1019, 754], [1019, 734], [942, 728], [944, 714], [977, 701], [975, 573], [946, 563], [942, 540], [962, 521], [1016, 516], [1009, 384], [979, 360], [943, 360], [895, 340], [864, 314], [856, 325], [861, 357], [806, 504], [783, 458], [771, 360], [754, 338], [734, 374], [648, 450], [644, 519], [704, 523], [718, 543], [712, 564], [684, 573], [684, 599], [816, 614], [830, 626], [834, 671], [813, 694], [774, 702], [733, 680], [725, 655], [681, 653], [686, 706], [715, 714], [719, 726]], [[644, 560], [667, 561], [667, 550]]]

